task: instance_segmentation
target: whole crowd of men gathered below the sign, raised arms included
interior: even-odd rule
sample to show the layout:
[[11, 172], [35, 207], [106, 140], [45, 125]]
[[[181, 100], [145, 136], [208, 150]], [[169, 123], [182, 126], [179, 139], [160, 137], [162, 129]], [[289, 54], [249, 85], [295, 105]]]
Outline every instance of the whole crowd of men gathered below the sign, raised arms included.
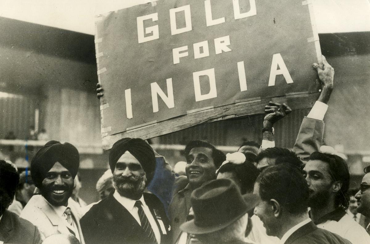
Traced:
[[[313, 67], [322, 92], [293, 151], [273, 139], [274, 123], [292, 110], [269, 102], [262, 145], [246, 142], [225, 155], [191, 141], [182, 176], [146, 141], [118, 140], [97, 182], [102, 200], [88, 206], [73, 194], [75, 146], [49, 141], [31, 160], [32, 177], [0, 161], [0, 243], [370, 243], [369, 225], [353, 219], [357, 212], [370, 217], [370, 167], [350, 199], [345, 156], [322, 145], [334, 70], [324, 57]], [[103, 95], [100, 85], [97, 92]], [[354, 199], [357, 212], [350, 216]]]

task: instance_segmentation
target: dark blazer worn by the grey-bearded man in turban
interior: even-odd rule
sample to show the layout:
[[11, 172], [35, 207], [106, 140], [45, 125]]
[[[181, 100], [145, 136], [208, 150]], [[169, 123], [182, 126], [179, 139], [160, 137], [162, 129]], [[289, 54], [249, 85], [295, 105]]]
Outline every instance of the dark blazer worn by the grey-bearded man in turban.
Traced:
[[[161, 244], [168, 243], [169, 224], [163, 204], [149, 193], [144, 193], [145, 203], [157, 222], [161, 232]], [[163, 221], [166, 233], [164, 234], [158, 222], [158, 216]], [[157, 218], [156, 218], [157, 217]], [[115, 243], [148, 243], [144, 230], [134, 217], [123, 207], [111, 193], [107, 198], [91, 207], [80, 220], [82, 233], [86, 244], [115, 244]]]

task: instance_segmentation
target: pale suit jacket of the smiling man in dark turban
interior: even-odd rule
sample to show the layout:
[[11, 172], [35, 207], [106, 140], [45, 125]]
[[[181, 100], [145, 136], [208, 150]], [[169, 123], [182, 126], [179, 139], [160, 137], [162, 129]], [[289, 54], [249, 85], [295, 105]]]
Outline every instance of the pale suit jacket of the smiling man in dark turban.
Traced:
[[[80, 218], [82, 217], [80, 207], [72, 198], [69, 198], [68, 203], [68, 207], [71, 208], [72, 215], [77, 224], [81, 244], [85, 244], [80, 225]], [[71, 233], [68, 230], [68, 223], [57, 215], [54, 209], [41, 195], [34, 195], [30, 199], [21, 212], [20, 217], [36, 225], [43, 238], [58, 233], [67, 235]]]

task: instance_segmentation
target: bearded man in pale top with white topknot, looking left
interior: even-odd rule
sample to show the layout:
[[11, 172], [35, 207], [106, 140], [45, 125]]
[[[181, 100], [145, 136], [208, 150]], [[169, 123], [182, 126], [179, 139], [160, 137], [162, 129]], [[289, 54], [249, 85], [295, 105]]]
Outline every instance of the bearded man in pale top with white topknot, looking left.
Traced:
[[313, 152], [303, 172], [309, 188], [310, 217], [317, 227], [353, 244], [370, 243], [365, 229], [346, 214], [350, 181], [346, 161], [328, 152]]

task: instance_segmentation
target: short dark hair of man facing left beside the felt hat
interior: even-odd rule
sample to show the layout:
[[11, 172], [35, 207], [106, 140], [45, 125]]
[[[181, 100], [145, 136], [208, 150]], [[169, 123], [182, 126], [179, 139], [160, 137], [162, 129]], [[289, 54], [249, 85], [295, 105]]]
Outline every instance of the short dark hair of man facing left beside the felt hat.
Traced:
[[307, 211], [308, 186], [298, 167], [289, 164], [269, 166], [256, 182], [263, 201], [275, 199], [283, 212], [302, 214]]

